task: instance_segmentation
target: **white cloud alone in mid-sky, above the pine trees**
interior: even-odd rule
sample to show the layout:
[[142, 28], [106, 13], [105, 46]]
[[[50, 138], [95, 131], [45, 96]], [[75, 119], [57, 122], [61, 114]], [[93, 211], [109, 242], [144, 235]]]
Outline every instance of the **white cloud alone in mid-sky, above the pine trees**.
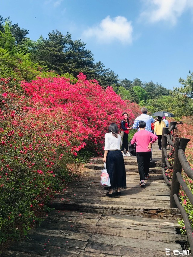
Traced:
[[128, 21], [125, 17], [111, 18], [107, 16], [97, 26], [85, 30], [82, 36], [86, 38], [94, 37], [102, 43], [110, 43], [116, 40], [125, 44], [132, 42], [132, 32], [131, 21]]

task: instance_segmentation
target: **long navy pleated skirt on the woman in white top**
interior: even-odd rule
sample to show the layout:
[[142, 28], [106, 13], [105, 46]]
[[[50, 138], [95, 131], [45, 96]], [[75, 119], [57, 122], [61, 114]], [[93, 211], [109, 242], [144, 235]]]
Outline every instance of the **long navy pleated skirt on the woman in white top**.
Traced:
[[111, 186], [104, 189], [117, 190], [118, 187], [127, 188], [125, 164], [121, 150], [108, 152], [106, 156], [106, 169], [110, 177]]

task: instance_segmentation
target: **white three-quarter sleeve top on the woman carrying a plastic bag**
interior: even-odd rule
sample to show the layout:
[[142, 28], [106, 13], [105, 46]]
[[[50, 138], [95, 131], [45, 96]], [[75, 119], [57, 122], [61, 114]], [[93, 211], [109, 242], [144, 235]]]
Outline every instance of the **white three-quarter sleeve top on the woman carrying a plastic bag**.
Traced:
[[119, 134], [117, 134], [117, 138], [112, 136], [112, 132], [105, 134], [104, 150], [120, 150], [120, 146], [122, 146], [122, 140]]

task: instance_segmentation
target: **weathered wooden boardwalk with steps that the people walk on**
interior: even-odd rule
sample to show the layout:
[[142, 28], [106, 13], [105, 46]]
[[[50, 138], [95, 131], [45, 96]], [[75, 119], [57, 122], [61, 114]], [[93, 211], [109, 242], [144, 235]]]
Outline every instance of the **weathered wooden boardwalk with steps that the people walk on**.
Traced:
[[[136, 157], [124, 157], [127, 189], [108, 198], [100, 185], [102, 158], [92, 158], [85, 176], [57, 196], [40, 227], [12, 244], [2, 256], [166, 256], [182, 249], [178, 209], [169, 207], [170, 190], [162, 177], [161, 151], [153, 145], [150, 179], [139, 186]], [[191, 255], [189, 255], [191, 256]]]

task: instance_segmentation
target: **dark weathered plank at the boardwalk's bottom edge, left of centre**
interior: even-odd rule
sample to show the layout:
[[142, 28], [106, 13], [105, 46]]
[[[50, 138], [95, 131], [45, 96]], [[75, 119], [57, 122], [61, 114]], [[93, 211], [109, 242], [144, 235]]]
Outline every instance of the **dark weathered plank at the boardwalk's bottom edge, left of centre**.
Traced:
[[25, 245], [23, 244], [23, 242], [13, 244], [9, 247], [9, 250], [26, 253], [26, 257], [28, 256], [28, 254], [37, 254], [37, 255], [48, 256], [48, 257], [59, 257], [59, 256], [60, 257], [63, 257], [63, 256], [78, 257], [78, 255], [81, 252], [79, 249], [75, 249], [75, 248], [65, 249], [65, 248], [59, 248], [59, 247], [54, 247], [49, 245], [41, 245], [37, 243], [28, 243], [28, 242], [26, 242]]

